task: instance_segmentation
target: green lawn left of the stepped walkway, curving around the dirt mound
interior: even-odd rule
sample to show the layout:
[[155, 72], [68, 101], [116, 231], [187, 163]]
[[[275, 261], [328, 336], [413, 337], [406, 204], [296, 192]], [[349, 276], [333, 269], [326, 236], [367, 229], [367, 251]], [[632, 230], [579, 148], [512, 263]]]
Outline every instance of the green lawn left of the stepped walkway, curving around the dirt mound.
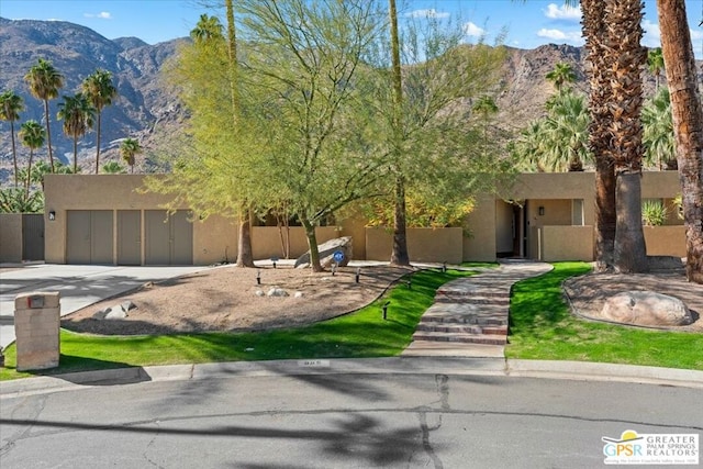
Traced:
[[[422, 270], [413, 275], [411, 289], [401, 282], [384, 298], [353, 314], [292, 330], [138, 337], [104, 337], [62, 330], [60, 366], [37, 375], [209, 361], [394, 356], [410, 344], [437, 288], [472, 273]], [[388, 301], [384, 321], [381, 305]], [[15, 348], [10, 346], [0, 380], [32, 376], [16, 372], [15, 364]]]

